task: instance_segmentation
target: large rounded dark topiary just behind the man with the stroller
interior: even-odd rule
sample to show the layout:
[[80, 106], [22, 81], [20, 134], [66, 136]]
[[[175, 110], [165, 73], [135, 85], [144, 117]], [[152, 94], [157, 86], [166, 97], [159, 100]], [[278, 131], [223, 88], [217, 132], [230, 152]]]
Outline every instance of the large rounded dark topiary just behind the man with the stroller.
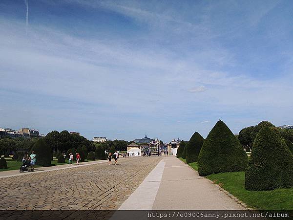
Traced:
[[36, 154], [36, 165], [51, 165], [52, 149], [42, 138], [35, 142], [31, 151]]

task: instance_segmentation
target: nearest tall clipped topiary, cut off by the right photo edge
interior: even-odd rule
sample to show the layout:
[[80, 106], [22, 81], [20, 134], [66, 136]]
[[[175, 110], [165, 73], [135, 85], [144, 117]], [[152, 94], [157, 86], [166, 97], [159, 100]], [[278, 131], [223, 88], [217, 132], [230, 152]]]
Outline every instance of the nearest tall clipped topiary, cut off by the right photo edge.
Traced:
[[253, 142], [245, 173], [250, 191], [293, 187], [293, 154], [272, 128], [260, 130]]

